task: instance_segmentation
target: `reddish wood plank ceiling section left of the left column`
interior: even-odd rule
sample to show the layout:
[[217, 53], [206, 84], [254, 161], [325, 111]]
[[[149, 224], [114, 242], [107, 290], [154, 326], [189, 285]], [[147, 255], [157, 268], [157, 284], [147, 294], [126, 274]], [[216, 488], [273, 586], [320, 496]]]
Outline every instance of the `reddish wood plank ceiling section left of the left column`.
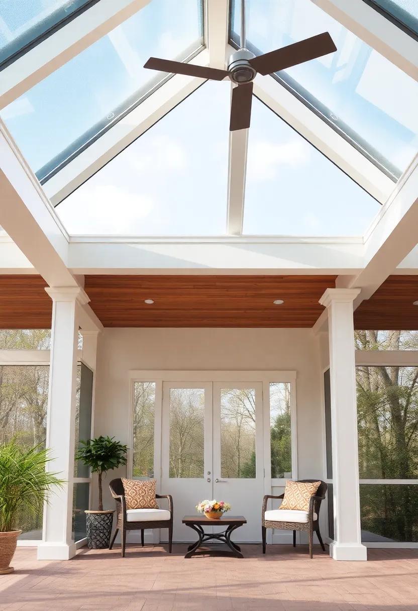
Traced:
[[0, 329], [50, 329], [52, 301], [41, 276], [0, 276]]

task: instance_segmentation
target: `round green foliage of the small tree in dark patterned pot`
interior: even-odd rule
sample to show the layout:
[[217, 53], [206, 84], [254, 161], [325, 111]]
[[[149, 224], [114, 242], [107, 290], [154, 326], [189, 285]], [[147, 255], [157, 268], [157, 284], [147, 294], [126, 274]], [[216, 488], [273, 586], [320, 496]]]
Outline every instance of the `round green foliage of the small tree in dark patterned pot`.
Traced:
[[114, 437], [101, 435], [95, 439], [80, 441], [81, 447], [76, 453], [76, 460], [81, 460], [94, 473], [99, 474], [127, 464], [128, 446], [113, 440]]

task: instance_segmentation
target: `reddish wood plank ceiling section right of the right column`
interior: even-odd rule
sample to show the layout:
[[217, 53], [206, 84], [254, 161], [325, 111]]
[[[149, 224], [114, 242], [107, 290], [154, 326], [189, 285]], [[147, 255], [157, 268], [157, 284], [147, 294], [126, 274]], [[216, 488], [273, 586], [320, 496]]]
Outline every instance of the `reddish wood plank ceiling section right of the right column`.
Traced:
[[418, 276], [389, 276], [354, 312], [356, 329], [418, 329]]

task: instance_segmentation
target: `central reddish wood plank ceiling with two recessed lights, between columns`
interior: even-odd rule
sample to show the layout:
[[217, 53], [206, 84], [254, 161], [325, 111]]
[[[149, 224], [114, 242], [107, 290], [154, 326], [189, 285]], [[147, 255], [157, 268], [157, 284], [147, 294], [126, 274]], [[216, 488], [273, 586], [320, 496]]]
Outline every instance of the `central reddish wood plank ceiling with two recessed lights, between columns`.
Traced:
[[86, 276], [84, 288], [105, 327], [312, 327], [323, 310], [318, 299], [335, 279]]

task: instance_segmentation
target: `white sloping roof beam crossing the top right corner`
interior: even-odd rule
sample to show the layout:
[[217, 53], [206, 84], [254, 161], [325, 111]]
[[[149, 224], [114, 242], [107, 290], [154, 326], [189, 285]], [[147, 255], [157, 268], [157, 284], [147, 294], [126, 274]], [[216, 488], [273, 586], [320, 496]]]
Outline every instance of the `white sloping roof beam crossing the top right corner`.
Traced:
[[363, 0], [312, 0], [336, 21], [418, 81], [418, 42]]

